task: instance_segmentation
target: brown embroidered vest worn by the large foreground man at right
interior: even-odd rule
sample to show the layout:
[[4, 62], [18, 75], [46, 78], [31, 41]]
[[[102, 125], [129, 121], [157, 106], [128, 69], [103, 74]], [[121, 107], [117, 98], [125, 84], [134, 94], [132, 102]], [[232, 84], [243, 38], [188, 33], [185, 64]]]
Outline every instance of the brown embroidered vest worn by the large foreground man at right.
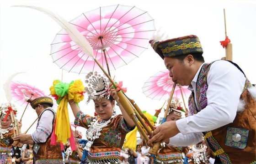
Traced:
[[[231, 63], [238, 67], [235, 63]], [[189, 109], [192, 115], [197, 114], [208, 105], [207, 74], [211, 64], [203, 65], [197, 78], [196, 93], [192, 93], [189, 97]], [[240, 68], [238, 67], [238, 69]], [[240, 101], [245, 101], [245, 109], [236, 114], [233, 123], [212, 131], [203, 132], [208, 146], [223, 164], [256, 163], [256, 99], [251, 97], [248, 91], [250, 86], [251, 83], [246, 78], [245, 86], [240, 96]], [[196, 108], [194, 96], [196, 96], [198, 108]]]

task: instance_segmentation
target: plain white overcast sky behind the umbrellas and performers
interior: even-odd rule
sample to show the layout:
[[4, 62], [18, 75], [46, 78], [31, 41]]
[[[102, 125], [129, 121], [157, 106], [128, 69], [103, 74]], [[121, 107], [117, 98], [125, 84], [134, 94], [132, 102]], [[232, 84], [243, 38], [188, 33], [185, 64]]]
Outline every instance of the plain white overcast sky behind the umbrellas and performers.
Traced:
[[[224, 13], [227, 35], [233, 44], [233, 62], [236, 62], [252, 83], [256, 83], [256, 1], [174, 1], [174, 0], [0, 0], [0, 103], [5, 103], [3, 85], [12, 74], [13, 81], [27, 82], [49, 94], [53, 80], [61, 79], [62, 70], [53, 63], [50, 54], [55, 35], [61, 27], [42, 12], [12, 5], [34, 5], [51, 10], [65, 20], [73, 20], [84, 12], [108, 5], [130, 5], [148, 11], [155, 28], [163, 28], [169, 38], [197, 35], [203, 46], [206, 62], [219, 60], [225, 50], [219, 41], [225, 39]], [[151, 100], [142, 93], [144, 82], [165, 69], [163, 60], [149, 46], [127, 66], [112, 71], [116, 81], [123, 81], [126, 93], [142, 110], [150, 114], [164, 101]], [[63, 71], [63, 82], [85, 80], [85, 74]], [[188, 96], [188, 95], [187, 95]], [[18, 118], [24, 108], [16, 105]], [[80, 103], [82, 111], [93, 114], [94, 104]], [[74, 117], [70, 114], [71, 122]], [[32, 123], [36, 113], [29, 108], [21, 131]], [[34, 130], [35, 128], [32, 128]]]

